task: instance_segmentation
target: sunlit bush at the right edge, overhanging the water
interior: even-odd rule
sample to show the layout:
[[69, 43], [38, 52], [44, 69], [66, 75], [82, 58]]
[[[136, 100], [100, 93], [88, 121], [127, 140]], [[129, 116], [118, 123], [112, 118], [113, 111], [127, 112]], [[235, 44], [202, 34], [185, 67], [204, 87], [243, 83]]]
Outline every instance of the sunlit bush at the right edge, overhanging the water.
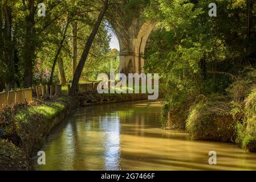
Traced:
[[236, 142], [245, 150], [256, 152], [256, 71], [247, 68], [227, 89], [233, 119], [237, 122]]

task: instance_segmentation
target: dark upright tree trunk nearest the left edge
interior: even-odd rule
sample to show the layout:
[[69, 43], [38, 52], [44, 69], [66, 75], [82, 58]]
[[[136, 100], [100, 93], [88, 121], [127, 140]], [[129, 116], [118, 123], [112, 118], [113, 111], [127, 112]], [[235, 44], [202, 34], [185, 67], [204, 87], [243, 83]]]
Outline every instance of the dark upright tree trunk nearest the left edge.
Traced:
[[11, 8], [6, 4], [3, 5], [5, 9], [5, 59], [7, 64], [7, 91], [11, 88], [14, 88], [14, 57], [13, 57], [13, 40], [11, 38], [11, 30], [12, 30], [12, 17], [11, 17]]

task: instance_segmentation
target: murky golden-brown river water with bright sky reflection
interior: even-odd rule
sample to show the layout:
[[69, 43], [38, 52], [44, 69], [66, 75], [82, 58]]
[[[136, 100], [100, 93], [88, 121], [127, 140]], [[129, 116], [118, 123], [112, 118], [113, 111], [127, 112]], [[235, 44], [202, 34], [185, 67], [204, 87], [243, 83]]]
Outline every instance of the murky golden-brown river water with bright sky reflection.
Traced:
[[[256, 169], [256, 154], [229, 143], [191, 141], [160, 129], [162, 102], [84, 107], [63, 122], [42, 148], [37, 170], [244, 170]], [[208, 164], [209, 151], [217, 165]]]

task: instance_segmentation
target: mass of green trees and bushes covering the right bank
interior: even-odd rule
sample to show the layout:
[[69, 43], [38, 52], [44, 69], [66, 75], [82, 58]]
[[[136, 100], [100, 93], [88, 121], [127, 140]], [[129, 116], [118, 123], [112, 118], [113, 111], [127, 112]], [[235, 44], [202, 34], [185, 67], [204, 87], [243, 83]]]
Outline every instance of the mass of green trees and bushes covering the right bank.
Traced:
[[[256, 76], [256, 2], [250, 17], [246, 1], [218, 1], [217, 17], [209, 17], [209, 3], [151, 0], [145, 15], [159, 23], [144, 53], [145, 70], [159, 73], [169, 86], [162, 125], [186, 124], [196, 139], [234, 141], [237, 133], [241, 143], [249, 131], [243, 101]], [[207, 99], [194, 105], [201, 96]]]

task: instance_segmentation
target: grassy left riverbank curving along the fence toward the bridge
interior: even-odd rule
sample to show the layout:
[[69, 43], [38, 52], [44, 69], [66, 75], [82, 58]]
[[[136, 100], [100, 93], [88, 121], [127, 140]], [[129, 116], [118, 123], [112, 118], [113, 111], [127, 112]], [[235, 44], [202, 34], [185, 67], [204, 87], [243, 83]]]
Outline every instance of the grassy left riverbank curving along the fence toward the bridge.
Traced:
[[15, 146], [10, 140], [0, 139], [0, 170], [30, 170], [31, 156], [42, 148], [54, 127], [74, 113], [79, 106], [146, 100], [147, 94], [97, 94], [62, 96], [44, 104], [27, 102], [0, 111], [4, 134], [17, 134], [21, 141]]

